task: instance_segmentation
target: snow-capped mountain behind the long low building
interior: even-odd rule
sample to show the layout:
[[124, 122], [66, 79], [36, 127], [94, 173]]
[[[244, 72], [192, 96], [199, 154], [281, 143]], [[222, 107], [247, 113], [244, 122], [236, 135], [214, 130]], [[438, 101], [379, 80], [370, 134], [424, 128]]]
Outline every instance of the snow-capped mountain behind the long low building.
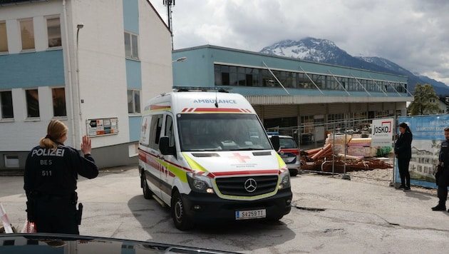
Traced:
[[308, 61], [317, 61], [326, 64], [335, 64], [348, 66], [352, 68], [363, 68], [369, 71], [380, 71], [408, 76], [408, 90], [413, 93], [417, 83], [430, 83], [435, 92], [440, 95], [449, 94], [449, 86], [445, 83], [435, 81], [426, 76], [417, 76], [411, 71], [398, 66], [398, 64], [380, 57], [354, 57], [346, 53], [326, 39], [315, 39], [308, 37], [299, 41], [284, 40], [271, 46], [266, 46], [259, 51], [264, 54], [273, 54], [277, 56], [286, 56]]

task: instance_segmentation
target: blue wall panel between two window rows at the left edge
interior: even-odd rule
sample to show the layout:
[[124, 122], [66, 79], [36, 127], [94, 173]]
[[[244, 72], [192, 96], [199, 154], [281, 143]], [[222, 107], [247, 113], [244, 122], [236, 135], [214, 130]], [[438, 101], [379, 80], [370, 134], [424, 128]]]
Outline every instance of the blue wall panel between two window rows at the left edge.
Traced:
[[0, 56], [0, 88], [64, 86], [63, 51]]

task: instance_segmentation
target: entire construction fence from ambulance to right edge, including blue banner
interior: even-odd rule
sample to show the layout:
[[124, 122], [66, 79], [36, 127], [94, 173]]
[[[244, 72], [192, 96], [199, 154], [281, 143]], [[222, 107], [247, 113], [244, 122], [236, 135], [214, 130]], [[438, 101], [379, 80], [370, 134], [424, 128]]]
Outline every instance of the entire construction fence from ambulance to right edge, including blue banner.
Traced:
[[[381, 131], [391, 136], [376, 146], [373, 133], [378, 126], [373, 122], [386, 123]], [[389, 125], [388, 125], [389, 123]], [[411, 161], [409, 172], [411, 184], [425, 188], [437, 188], [435, 185], [436, 166], [442, 141], [445, 140], [444, 128], [449, 126], [449, 114], [430, 116], [399, 116], [398, 118], [372, 118], [334, 121], [332, 123], [314, 123], [289, 128], [269, 128], [280, 135], [292, 136], [299, 146], [300, 172], [321, 174], [342, 174], [343, 178], [366, 177], [361, 171], [377, 171], [368, 174], [378, 181], [389, 181], [398, 186], [401, 181], [393, 153], [398, 135], [399, 123], [407, 123], [413, 134], [411, 143]], [[378, 134], [376, 134], [376, 139]], [[391, 138], [390, 138], [391, 137]], [[381, 173], [379, 173], [381, 172]]]

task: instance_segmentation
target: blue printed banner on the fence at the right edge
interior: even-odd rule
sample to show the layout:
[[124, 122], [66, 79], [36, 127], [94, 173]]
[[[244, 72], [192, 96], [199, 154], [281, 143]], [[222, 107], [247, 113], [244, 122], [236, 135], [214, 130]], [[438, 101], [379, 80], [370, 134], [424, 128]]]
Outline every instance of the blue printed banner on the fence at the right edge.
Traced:
[[[397, 125], [399, 123], [407, 123], [413, 134], [412, 158], [408, 166], [411, 184], [436, 188], [435, 167], [444, 141], [444, 128], [449, 126], [449, 115], [399, 117]], [[395, 168], [395, 181], [400, 183], [397, 163]]]

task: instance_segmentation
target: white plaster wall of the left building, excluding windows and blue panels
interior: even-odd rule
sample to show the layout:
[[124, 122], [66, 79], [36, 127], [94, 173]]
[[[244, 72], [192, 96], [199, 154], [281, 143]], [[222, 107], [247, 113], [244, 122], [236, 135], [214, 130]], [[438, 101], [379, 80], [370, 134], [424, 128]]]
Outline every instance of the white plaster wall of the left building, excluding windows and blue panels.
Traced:
[[[123, 39], [123, 1], [43, 1], [33, 4], [2, 6], [0, 19], [6, 20], [10, 54], [20, 53], [19, 19], [33, 18], [36, 51], [45, 51], [47, 44], [45, 16], [61, 17], [61, 36], [65, 65], [66, 106], [68, 116], [64, 122], [72, 128], [70, 83], [76, 91], [76, 24], [83, 23], [78, 38], [79, 84], [81, 118], [76, 114], [77, 138], [75, 144], [69, 133], [66, 145], [79, 148], [81, 136], [86, 134], [86, 121], [91, 118], [118, 118], [118, 135], [92, 139], [93, 148], [128, 143], [129, 118]], [[172, 86], [171, 36], [165, 24], [145, 0], [139, 0], [140, 61], [143, 88], [141, 105], [148, 98], [169, 91]], [[65, 17], [67, 20], [65, 20]], [[69, 68], [70, 66], [70, 68]], [[29, 151], [46, 134], [52, 119], [51, 88], [39, 87], [41, 117], [26, 120], [24, 89], [12, 90], [14, 121], [0, 123], [0, 151]], [[76, 96], [76, 94], [73, 94]], [[76, 99], [76, 97], [75, 97]], [[75, 103], [77, 103], [76, 99]], [[75, 110], [78, 105], [75, 105]], [[75, 112], [76, 113], [76, 112]]]

